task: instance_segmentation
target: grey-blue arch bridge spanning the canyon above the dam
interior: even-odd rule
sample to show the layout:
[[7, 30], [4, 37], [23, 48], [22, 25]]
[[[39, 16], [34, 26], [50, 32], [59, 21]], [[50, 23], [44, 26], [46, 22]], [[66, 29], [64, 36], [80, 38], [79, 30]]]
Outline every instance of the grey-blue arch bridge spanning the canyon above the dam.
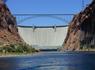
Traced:
[[[65, 16], [69, 16], [69, 18], [71, 18], [72, 16], [74, 15], [65, 15]], [[20, 20], [18, 19], [18, 24], [21, 24], [25, 21], [28, 21], [28, 20], [32, 20], [32, 19], [37, 19], [37, 18], [52, 18], [52, 19], [56, 19], [56, 20], [59, 20], [61, 21], [62, 23], [65, 22], [65, 23], [69, 23], [69, 21], [66, 19], [64, 15], [20, 15], [20, 16], [17, 16], [17, 17], [24, 17], [24, 18], [21, 18]], [[71, 16], [71, 17], [70, 17]]]

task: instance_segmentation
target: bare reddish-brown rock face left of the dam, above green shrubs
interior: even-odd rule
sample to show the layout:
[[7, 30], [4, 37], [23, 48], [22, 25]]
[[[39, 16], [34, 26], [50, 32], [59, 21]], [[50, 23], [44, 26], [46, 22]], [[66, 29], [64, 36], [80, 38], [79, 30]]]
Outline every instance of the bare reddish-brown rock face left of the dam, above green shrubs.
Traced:
[[3, 0], [0, 0], [0, 43], [23, 42], [18, 34], [16, 19]]

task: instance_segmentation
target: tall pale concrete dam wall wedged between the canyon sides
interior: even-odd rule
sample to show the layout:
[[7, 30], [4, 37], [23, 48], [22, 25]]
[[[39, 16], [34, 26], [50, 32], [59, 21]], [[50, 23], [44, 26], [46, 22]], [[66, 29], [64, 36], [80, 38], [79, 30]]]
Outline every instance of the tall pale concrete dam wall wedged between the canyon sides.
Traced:
[[68, 26], [18, 26], [22, 39], [36, 49], [62, 47]]

